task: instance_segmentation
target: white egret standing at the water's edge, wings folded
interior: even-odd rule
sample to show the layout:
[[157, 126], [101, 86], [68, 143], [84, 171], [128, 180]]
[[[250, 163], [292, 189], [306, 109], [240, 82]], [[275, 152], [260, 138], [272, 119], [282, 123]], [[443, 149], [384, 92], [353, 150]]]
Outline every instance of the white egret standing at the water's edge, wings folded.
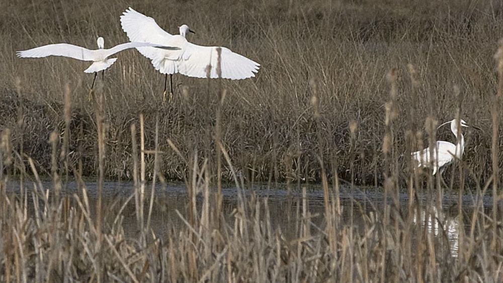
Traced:
[[[445, 122], [438, 128], [449, 123], [451, 123], [451, 131], [457, 140], [456, 145], [447, 141], [437, 141], [437, 147], [433, 151], [433, 159], [430, 156], [431, 153], [430, 147], [425, 148], [423, 150], [412, 152], [411, 153], [412, 159], [415, 162], [417, 162], [418, 168], [420, 167], [432, 168], [433, 166], [433, 175], [435, 175], [439, 169], [440, 174], [442, 175], [447, 165], [454, 162], [455, 159], [461, 159], [461, 157], [463, 156], [463, 151], [465, 149], [465, 139], [461, 132], [459, 132], [460, 136], [458, 138], [458, 121], [454, 119], [452, 121]], [[459, 121], [459, 126], [469, 127], [464, 120]], [[480, 130], [479, 128], [474, 126], [472, 126], [472, 128]]]

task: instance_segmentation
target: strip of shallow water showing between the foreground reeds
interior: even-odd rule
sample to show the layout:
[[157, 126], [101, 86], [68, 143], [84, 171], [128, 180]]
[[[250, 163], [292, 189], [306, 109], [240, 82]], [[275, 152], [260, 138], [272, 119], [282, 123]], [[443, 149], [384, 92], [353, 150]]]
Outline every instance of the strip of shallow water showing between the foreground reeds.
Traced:
[[[25, 188], [30, 190], [34, 187], [34, 183], [25, 182]], [[94, 207], [97, 197], [97, 183], [96, 182], [86, 182], [85, 186], [87, 188], [87, 193], [90, 199], [90, 205]], [[8, 184], [8, 191], [19, 192], [21, 184], [19, 181], [11, 181]], [[50, 190], [52, 187], [52, 182], [42, 182], [42, 187], [44, 190]], [[150, 198], [151, 184], [145, 186], [145, 215], [148, 210], [148, 202]], [[213, 190], [210, 192], [214, 195]], [[76, 182], [68, 182], [66, 186], [63, 187], [63, 194], [81, 196], [81, 187], [77, 185]], [[106, 208], [105, 219], [108, 219], [108, 224], [111, 226], [112, 222], [115, 220], [117, 213], [120, 210], [122, 204], [134, 194], [134, 185], [132, 182], [105, 182], [103, 186], [103, 204]], [[243, 199], [249, 200], [250, 198], [257, 198], [264, 202], [267, 199], [269, 204], [269, 212], [271, 215], [271, 225], [280, 229], [287, 240], [292, 240], [298, 235], [298, 229], [302, 213], [302, 192], [298, 190], [268, 190], [265, 187], [257, 186], [253, 189], [238, 190], [235, 187], [224, 187], [222, 188], [223, 194], [223, 210], [224, 215], [227, 219], [231, 219], [232, 213], [237, 206], [239, 196]], [[385, 196], [382, 192], [376, 192], [374, 189], [369, 189], [367, 191], [360, 190], [359, 188], [349, 188], [342, 187], [340, 192], [340, 202], [342, 207], [342, 221], [343, 225], [349, 225], [350, 223], [360, 232], [364, 231], [364, 217], [369, 216], [371, 213], [380, 213], [384, 208]], [[308, 211], [311, 215], [311, 221], [314, 227], [323, 227], [323, 214], [324, 214], [324, 199], [323, 192], [320, 187], [310, 188], [306, 192], [306, 201], [308, 204]], [[416, 201], [420, 201], [423, 206], [425, 203], [435, 202], [434, 199], [428, 198], [425, 193], [418, 193], [415, 197]], [[457, 255], [458, 248], [458, 225], [456, 220], [457, 215], [457, 203], [459, 200], [458, 192], [447, 192], [443, 195], [442, 208], [435, 208], [434, 214], [436, 218], [440, 218], [437, 215], [438, 211], [442, 212], [442, 219], [446, 219], [448, 226], [443, 227], [446, 231], [446, 235], [451, 244], [452, 253], [454, 256]], [[473, 211], [474, 205], [477, 203], [477, 198], [474, 195], [466, 194], [462, 198], [463, 212], [469, 214]], [[406, 211], [409, 202], [409, 196], [406, 193], [400, 193], [398, 195], [399, 210]], [[177, 211], [181, 213], [182, 216], [187, 215], [187, 204], [189, 198], [187, 195], [187, 190], [185, 184], [182, 183], [170, 183], [167, 186], [156, 185], [155, 187], [155, 198], [154, 206], [152, 210], [152, 217], [150, 227], [152, 232], [158, 238], [163, 238], [170, 229], [177, 229], [184, 224]], [[202, 206], [203, 197], [202, 194], [198, 194], [196, 198], [198, 212]], [[490, 210], [492, 206], [492, 198], [484, 196], [481, 200], [481, 206], [485, 211]], [[393, 199], [388, 196], [387, 203], [392, 204]], [[435, 202], [436, 203], [436, 202]], [[396, 209], [396, 208], [395, 208]], [[94, 211], [93, 209], [91, 209]], [[125, 207], [123, 211], [123, 222], [122, 226], [125, 233], [128, 236], [135, 236], [139, 233], [139, 226], [136, 220], [136, 212], [134, 205], [134, 198], [131, 198], [129, 204]], [[146, 218], [146, 216], [145, 216]], [[107, 223], [107, 221], [105, 221]], [[433, 233], [436, 237], [440, 237], [442, 233], [439, 233], [439, 225], [437, 224], [435, 218], [425, 221], [425, 216], [422, 214], [420, 217], [414, 216], [414, 223], [416, 225], [427, 226], [427, 230]], [[470, 227], [470, 223], [465, 222], [465, 230]], [[417, 229], [416, 231], [420, 231]]]

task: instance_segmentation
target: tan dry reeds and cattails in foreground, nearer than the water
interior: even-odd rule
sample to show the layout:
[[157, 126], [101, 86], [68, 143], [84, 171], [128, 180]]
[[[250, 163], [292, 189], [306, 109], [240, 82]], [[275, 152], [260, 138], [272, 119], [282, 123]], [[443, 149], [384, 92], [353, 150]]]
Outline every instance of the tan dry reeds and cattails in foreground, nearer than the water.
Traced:
[[[426, 187], [416, 171], [409, 172], [414, 179], [408, 187], [409, 203], [399, 201], [397, 174], [398, 143], [393, 139], [398, 114], [393, 105], [398, 88], [396, 70], [388, 75], [389, 102], [386, 104], [386, 134], [382, 148], [386, 158], [384, 202], [349, 200], [341, 205], [340, 185], [329, 183], [321, 166], [323, 203], [320, 212], [310, 209], [306, 187], [293, 206], [275, 208], [267, 197], [257, 197], [243, 190], [228, 147], [219, 141], [222, 136], [215, 127], [213, 140], [219, 148], [221, 166], [232, 174], [237, 190], [236, 204], [230, 214], [222, 207], [221, 189], [210, 180], [214, 168], [209, 167], [200, 151], [185, 155], [169, 140], [171, 150], [185, 164], [187, 177], [185, 205], [178, 206], [175, 215], [164, 217], [159, 207], [169, 206], [168, 199], [155, 191], [155, 182], [165, 185], [165, 179], [154, 166], [147, 171], [145, 159], [153, 156], [154, 164], [164, 152], [159, 150], [159, 123], [154, 121], [154, 147], [146, 147], [144, 127], [146, 120], [131, 124], [133, 148], [133, 192], [117, 199], [102, 199], [107, 145], [103, 139], [104, 116], [100, 103], [95, 104], [98, 143], [99, 175], [97, 199], [90, 198], [86, 182], [78, 167], [69, 164], [70, 173], [77, 180], [77, 191], [59, 192], [65, 184], [64, 168], [52, 168], [52, 181], [43, 184], [36, 166], [27, 155], [21, 155], [13, 146], [9, 130], [2, 134], [0, 143], [0, 279], [2, 281], [500, 281], [503, 230], [491, 211], [482, 203], [490, 182], [473, 190], [474, 205], [470, 210], [455, 213], [461, 229], [457, 230], [457, 249], [451, 244], [448, 230], [440, 228], [438, 235], [427, 223], [432, 216], [439, 227], [447, 227], [447, 214], [437, 212], [433, 188], [439, 184], [429, 178]], [[220, 89], [224, 94], [225, 91]], [[322, 147], [321, 115], [317, 92], [311, 98], [317, 121], [316, 136]], [[103, 97], [98, 95], [98, 97]], [[66, 96], [66, 98], [68, 98]], [[222, 95], [221, 102], [225, 96]], [[66, 100], [65, 121], [70, 119], [72, 105]], [[221, 109], [216, 110], [217, 121]], [[137, 132], [139, 128], [139, 144]], [[351, 124], [352, 135], [356, 125]], [[433, 130], [435, 128], [432, 128]], [[101, 131], [101, 133], [100, 133]], [[434, 133], [432, 134], [434, 135]], [[52, 132], [50, 142], [54, 149], [51, 160], [56, 163], [64, 147], [58, 149], [59, 135]], [[63, 135], [67, 144], [68, 135]], [[354, 139], [354, 137], [352, 138]], [[211, 147], [201, 151], [210, 151]], [[65, 154], [66, 157], [68, 154]], [[204, 156], [204, 155], [203, 155]], [[62, 156], [65, 159], [65, 156]], [[203, 160], [201, 160], [203, 159]], [[334, 158], [331, 162], [336, 163]], [[462, 167], [462, 166], [459, 166]], [[23, 179], [19, 191], [10, 189], [13, 171], [21, 171]], [[27, 171], [30, 171], [29, 173]], [[218, 170], [217, 170], [218, 171]], [[151, 174], [152, 180], [146, 180]], [[458, 177], [458, 182], [464, 176]], [[440, 178], [437, 178], [440, 181]], [[336, 177], [337, 180], [337, 177]], [[146, 190], [151, 184], [151, 190]], [[352, 186], [353, 187], [353, 186]], [[217, 192], [215, 192], [215, 188]], [[442, 187], [436, 187], [443, 190]], [[422, 203], [428, 190], [427, 205]], [[460, 191], [460, 196], [462, 191]], [[155, 200], [155, 201], [154, 201]], [[389, 200], [389, 201], [386, 201]], [[155, 206], [155, 208], [154, 208]], [[364, 206], [369, 206], [365, 208]], [[441, 206], [440, 206], [441, 207]], [[283, 231], [278, 225], [278, 209], [293, 212], [283, 221], [291, 227]], [[349, 212], [345, 210], [350, 210]], [[151, 214], [163, 219], [151, 226]], [[425, 213], [422, 211], [425, 210]], [[159, 212], [160, 211], [160, 212]], [[272, 213], [273, 212], [273, 213]], [[145, 221], [145, 214], [146, 221]], [[133, 215], [133, 217], [128, 217]], [[427, 215], [418, 221], [416, 215]], [[466, 218], [466, 224], [463, 223]], [[423, 223], [421, 221], [424, 221]], [[131, 225], [136, 225], [131, 232]], [[433, 224], [436, 225], [436, 224]], [[129, 228], [128, 228], [129, 227]], [[456, 256], [454, 256], [456, 255]]]

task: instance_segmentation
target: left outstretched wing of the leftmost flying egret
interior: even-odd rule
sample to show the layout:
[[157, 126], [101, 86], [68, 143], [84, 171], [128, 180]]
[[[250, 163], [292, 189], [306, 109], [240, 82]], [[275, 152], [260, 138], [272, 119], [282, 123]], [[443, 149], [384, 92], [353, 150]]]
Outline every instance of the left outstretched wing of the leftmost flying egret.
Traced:
[[87, 48], [67, 43], [49, 44], [32, 49], [18, 51], [21, 58], [41, 58], [47, 56], [63, 56], [82, 61], [93, 61], [93, 51]]

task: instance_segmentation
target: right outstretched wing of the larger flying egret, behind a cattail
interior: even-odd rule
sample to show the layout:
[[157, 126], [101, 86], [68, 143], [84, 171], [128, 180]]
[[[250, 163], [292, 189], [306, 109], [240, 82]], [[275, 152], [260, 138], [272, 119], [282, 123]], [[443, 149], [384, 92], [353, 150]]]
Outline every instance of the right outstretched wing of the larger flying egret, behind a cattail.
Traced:
[[259, 63], [234, 53], [228, 48], [200, 46], [192, 43], [188, 43], [184, 48], [182, 60], [178, 62], [178, 71], [187, 76], [206, 78], [209, 67], [209, 77], [218, 78], [218, 49], [221, 50], [220, 77], [244, 79], [255, 77], [255, 73], [259, 71]]

